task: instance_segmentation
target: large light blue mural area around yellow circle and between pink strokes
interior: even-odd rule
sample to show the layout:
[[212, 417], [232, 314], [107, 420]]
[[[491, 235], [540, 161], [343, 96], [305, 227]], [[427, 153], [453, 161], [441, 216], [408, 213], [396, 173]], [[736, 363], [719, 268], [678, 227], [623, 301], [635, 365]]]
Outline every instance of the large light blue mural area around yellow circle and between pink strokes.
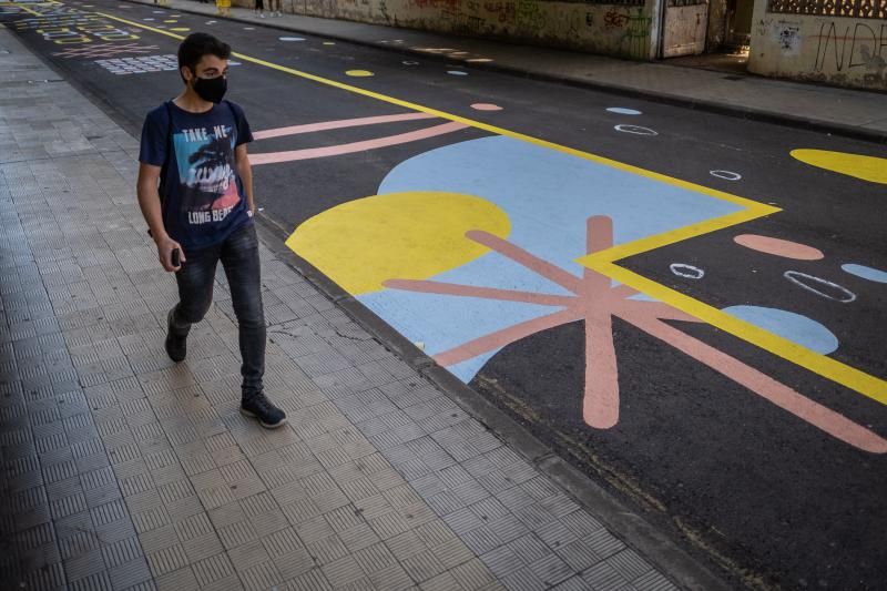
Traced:
[[[495, 203], [511, 220], [510, 242], [577, 277], [584, 272], [574, 259], [585, 254], [589, 216], [610, 216], [620, 244], [741, 210], [695, 191], [504, 136], [470, 140], [414, 156], [388, 173], [378, 193], [410, 191], [462, 193]], [[570, 295], [495, 252], [431, 279]], [[358, 299], [411, 342], [424, 342], [429, 355], [563, 309], [397, 289]], [[449, 369], [468, 383], [498, 350]]]

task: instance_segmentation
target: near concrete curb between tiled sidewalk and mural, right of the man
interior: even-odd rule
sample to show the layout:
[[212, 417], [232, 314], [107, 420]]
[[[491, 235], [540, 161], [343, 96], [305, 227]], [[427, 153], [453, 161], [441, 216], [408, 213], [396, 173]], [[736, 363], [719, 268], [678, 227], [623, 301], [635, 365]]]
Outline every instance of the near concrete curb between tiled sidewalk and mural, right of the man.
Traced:
[[[272, 220], [258, 216], [256, 227], [263, 244], [281, 261], [302, 274], [326, 297], [363, 326], [416, 371], [452, 399], [462, 410], [490, 429], [509, 448], [521, 455], [599, 518], [614, 536], [649, 559], [675, 584], [687, 591], [735, 589], [726, 577], [712, 572], [680, 548], [643, 516], [630, 510], [612, 493], [560, 457], [527, 428], [508, 416], [456, 376], [437, 365], [412, 343], [369, 310], [350, 294], [284, 244], [289, 232]], [[734, 577], [738, 578], [736, 573]]]

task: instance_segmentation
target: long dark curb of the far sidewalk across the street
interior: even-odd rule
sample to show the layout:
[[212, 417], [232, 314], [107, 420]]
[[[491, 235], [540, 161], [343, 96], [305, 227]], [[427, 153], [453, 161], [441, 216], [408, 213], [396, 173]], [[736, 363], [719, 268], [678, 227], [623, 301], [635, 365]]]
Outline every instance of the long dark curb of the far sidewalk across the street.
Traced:
[[[244, 19], [237, 16], [231, 17], [220, 17], [216, 14], [207, 14], [206, 12], [202, 12], [200, 10], [188, 9], [188, 8], [172, 8], [169, 6], [161, 6], [154, 4], [151, 2], [146, 2], [144, 0], [125, 0], [128, 2], [132, 2], [134, 4], [143, 4], [143, 6], [152, 6], [162, 8], [165, 10], [175, 10], [179, 12], [187, 12], [190, 14], [198, 14], [201, 17], [212, 17], [216, 20], [218, 19], [226, 19], [234, 22], [242, 22], [245, 24], [251, 26], [261, 26], [266, 27], [268, 29], [279, 29], [283, 31], [296, 32], [300, 34], [307, 35], [315, 35], [315, 37], [324, 37], [328, 39], [335, 39], [336, 41], [343, 41], [348, 43], [354, 43], [356, 45], [369, 47], [375, 48], [384, 51], [400, 53], [404, 55], [410, 57], [421, 57], [426, 60], [432, 60], [438, 62], [461, 62], [458, 58], [450, 58], [446, 55], [439, 55], [436, 53], [428, 53], [424, 51], [419, 51], [411, 48], [406, 47], [398, 47], [398, 45], [389, 45], [383, 43], [374, 43], [371, 41], [363, 40], [363, 39], [355, 39], [354, 37], [348, 37], [345, 34], [336, 34], [336, 33], [320, 33], [317, 31], [310, 31], [304, 28], [298, 28], [294, 26], [287, 26], [279, 21], [273, 21], [271, 19], [266, 19], [267, 22], [256, 22], [255, 20]], [[674, 65], [665, 65], [665, 64], [655, 64], [661, 68], [674, 68], [677, 69], [679, 67]], [[570, 78], [557, 74], [549, 74], [546, 72], [540, 72], [527, 68], [520, 68], [517, 65], [507, 65], [500, 63], [491, 63], [491, 62], [477, 62], [471, 63], [471, 68], [477, 70], [487, 70], [492, 72], [504, 72], [510, 74], [519, 74], [523, 78], [530, 80], [539, 80], [543, 82], [554, 82], [560, 84], [567, 84], [570, 86], [577, 88], [585, 88], [591, 89], [600, 92], [606, 92], [610, 94], [616, 94], [620, 96], [629, 96], [633, 99], [643, 99], [648, 101], [654, 101], [662, 104], [669, 104], [672, 106], [682, 106], [685, 109], [694, 109], [697, 111], [705, 111], [708, 113], [715, 113], [720, 115], [727, 115], [734, 116], [738, 119], [752, 120], [752, 121], [759, 121], [762, 123], [772, 123], [777, 125], [785, 125], [795, 129], [808, 130], [808, 131], [818, 131], [823, 133], [829, 133], [834, 135], [840, 135], [843, 137], [848, 137], [852, 140], [861, 140], [865, 142], [874, 142], [878, 144], [887, 144], [887, 131], [876, 131], [876, 130], [867, 130], [865, 128], [859, 128], [857, 125], [844, 125], [840, 123], [832, 123], [828, 121], [822, 121], [810, 118], [805, 118], [802, 115], [793, 115], [789, 113], [776, 113], [773, 111], [765, 111], [762, 109], [754, 109], [750, 106], [737, 106], [737, 105], [730, 105], [724, 103], [718, 103], [716, 101], [706, 101], [702, 99], [690, 99], [687, 96], [681, 96], [676, 94], [665, 94], [661, 92], [654, 92], [644, 89], [638, 89], [634, 86], [625, 86], [622, 84], [614, 84], [614, 83], [604, 83], [604, 82], [595, 82], [592, 80], [587, 79], [579, 79], [579, 78]], [[752, 75], [752, 74], [748, 74]], [[887, 96], [885, 98], [887, 100]]]

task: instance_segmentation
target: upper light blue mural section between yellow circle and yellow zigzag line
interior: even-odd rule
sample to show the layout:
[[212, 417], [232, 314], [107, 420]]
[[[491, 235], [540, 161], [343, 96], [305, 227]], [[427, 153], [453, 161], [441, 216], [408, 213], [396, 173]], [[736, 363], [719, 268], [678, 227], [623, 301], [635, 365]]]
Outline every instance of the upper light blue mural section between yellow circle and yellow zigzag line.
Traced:
[[613, 220], [614, 242], [632, 242], [720, 217], [741, 206], [512, 137], [439, 147], [395, 166], [379, 193], [477, 195], [511, 220], [509, 240], [579, 275], [591, 215]]

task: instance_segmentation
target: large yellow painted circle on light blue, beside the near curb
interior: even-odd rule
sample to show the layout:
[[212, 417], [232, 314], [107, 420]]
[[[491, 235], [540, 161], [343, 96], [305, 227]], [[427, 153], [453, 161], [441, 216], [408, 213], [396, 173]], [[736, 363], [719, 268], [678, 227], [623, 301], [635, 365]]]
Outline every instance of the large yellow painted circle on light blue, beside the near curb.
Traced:
[[388, 279], [426, 279], [489, 248], [466, 237], [483, 230], [507, 237], [511, 223], [473, 195], [410, 192], [343, 203], [303, 223], [286, 245], [353, 295]]

